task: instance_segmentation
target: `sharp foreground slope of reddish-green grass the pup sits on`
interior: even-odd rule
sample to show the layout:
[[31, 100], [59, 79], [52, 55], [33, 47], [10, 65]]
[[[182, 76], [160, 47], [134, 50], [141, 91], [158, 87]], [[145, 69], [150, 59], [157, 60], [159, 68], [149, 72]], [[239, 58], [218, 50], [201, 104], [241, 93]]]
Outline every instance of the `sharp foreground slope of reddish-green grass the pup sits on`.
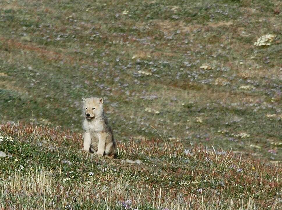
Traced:
[[71, 131], [0, 128], [0, 209], [282, 208], [281, 167], [232, 151], [130, 140], [117, 159], [98, 159], [81, 153]]

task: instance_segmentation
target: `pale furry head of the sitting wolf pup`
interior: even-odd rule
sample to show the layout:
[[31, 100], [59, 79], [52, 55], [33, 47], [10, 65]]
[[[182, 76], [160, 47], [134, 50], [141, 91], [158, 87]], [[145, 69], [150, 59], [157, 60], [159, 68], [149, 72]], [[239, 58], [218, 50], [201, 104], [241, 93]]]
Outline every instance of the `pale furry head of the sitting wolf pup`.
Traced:
[[84, 116], [91, 120], [100, 117], [103, 113], [103, 98], [82, 98]]

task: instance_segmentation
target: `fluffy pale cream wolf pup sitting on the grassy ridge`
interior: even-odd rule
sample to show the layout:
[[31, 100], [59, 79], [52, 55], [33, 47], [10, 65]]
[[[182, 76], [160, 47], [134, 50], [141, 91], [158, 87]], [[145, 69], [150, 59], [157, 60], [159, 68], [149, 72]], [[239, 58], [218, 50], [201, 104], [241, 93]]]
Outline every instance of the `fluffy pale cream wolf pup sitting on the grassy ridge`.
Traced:
[[103, 111], [103, 98], [82, 98], [83, 112], [83, 150], [105, 155], [116, 156], [116, 141]]

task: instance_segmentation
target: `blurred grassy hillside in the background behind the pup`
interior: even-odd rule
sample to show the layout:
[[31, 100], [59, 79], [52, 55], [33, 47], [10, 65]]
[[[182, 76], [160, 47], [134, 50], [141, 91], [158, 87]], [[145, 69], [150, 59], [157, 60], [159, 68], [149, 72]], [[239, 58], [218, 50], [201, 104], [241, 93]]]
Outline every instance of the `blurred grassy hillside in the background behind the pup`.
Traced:
[[282, 159], [281, 1], [0, 3], [2, 120], [79, 132], [81, 97], [103, 96], [119, 141]]

